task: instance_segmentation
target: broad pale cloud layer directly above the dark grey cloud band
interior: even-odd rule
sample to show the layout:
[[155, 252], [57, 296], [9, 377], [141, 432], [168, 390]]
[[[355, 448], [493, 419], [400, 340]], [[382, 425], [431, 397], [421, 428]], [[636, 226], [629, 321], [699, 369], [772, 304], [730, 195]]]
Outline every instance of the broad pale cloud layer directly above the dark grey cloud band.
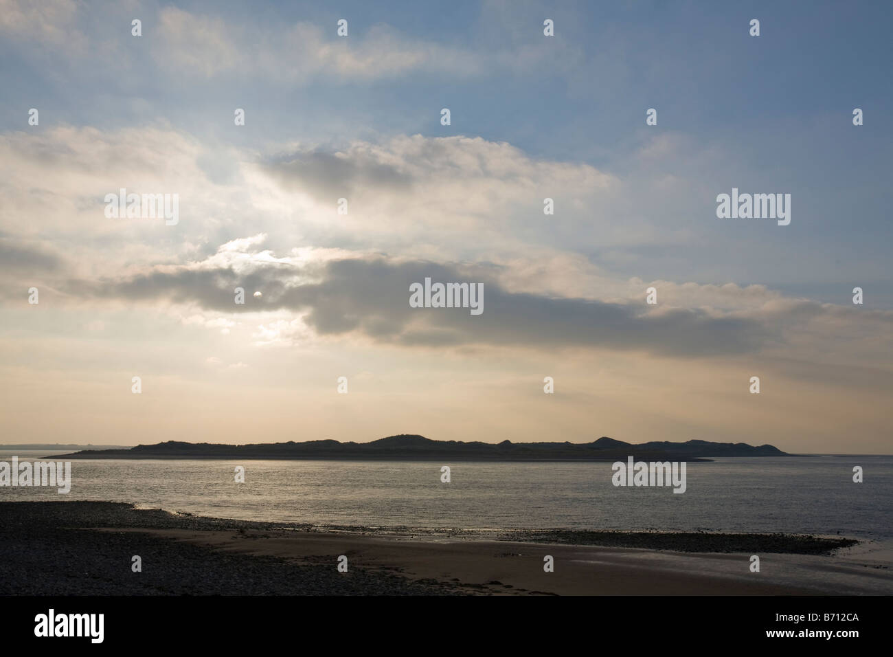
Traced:
[[[207, 162], [231, 163], [235, 173], [216, 180]], [[260, 232], [279, 253], [302, 244], [455, 261], [537, 262], [685, 239], [661, 215], [624, 214], [629, 184], [589, 164], [463, 136], [257, 154], [163, 125], [0, 135], [0, 230], [55, 240], [80, 266], [110, 270], [92, 274], [200, 259], [222, 241]], [[103, 198], [121, 188], [176, 193], [179, 223], [108, 219]], [[347, 198], [347, 215], [337, 214], [338, 198]], [[543, 214], [544, 198], [555, 200], [555, 215]], [[624, 265], [635, 270], [642, 257], [653, 258]]]

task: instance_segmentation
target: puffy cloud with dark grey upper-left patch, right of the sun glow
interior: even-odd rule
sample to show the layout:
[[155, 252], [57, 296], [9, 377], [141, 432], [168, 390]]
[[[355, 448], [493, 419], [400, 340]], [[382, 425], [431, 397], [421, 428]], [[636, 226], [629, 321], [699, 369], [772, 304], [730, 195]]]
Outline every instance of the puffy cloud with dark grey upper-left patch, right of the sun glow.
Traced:
[[[608, 209], [622, 188], [612, 174], [480, 137], [399, 136], [327, 150], [297, 145], [258, 166], [284, 199], [313, 202], [305, 220], [321, 229], [332, 230], [336, 202], [346, 198], [348, 214], [335, 225], [362, 232], [372, 248], [427, 256], [426, 248], [434, 255], [461, 245], [454, 256], [466, 257], [495, 245], [580, 244], [596, 234], [610, 243], [626, 230]], [[555, 199], [555, 215], [543, 214], [544, 198]]]

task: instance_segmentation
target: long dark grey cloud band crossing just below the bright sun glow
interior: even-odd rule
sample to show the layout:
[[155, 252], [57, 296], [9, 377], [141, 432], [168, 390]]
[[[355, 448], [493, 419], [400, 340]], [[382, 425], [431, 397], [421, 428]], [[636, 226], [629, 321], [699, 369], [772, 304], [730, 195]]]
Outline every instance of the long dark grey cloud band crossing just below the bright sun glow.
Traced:
[[[316, 333], [358, 332], [375, 341], [406, 346], [511, 345], [555, 349], [601, 347], [676, 356], [711, 356], [759, 350], [780, 339], [778, 331], [741, 317], [714, 317], [701, 310], [654, 312], [642, 304], [615, 304], [505, 291], [480, 269], [430, 262], [394, 263], [384, 257], [331, 261], [313, 269], [312, 283], [290, 265], [264, 266], [240, 275], [230, 268], [155, 271], [123, 281], [80, 283], [93, 297], [195, 302], [223, 313], [288, 309], [305, 313]], [[409, 286], [432, 282], [482, 282], [484, 311], [413, 308]], [[306, 277], [305, 277], [306, 278]], [[246, 291], [246, 305], [233, 290]], [[255, 299], [254, 291], [263, 297]], [[649, 310], [651, 312], [649, 312]]]

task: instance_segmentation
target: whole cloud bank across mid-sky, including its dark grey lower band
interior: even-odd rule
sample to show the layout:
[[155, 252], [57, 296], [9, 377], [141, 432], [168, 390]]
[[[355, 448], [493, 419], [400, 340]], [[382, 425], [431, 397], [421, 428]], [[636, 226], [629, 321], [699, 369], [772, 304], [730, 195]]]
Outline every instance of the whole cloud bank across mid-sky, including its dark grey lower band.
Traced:
[[[617, 220], [612, 204], [626, 194], [625, 180], [588, 164], [537, 159], [505, 142], [413, 135], [340, 148], [292, 144], [265, 156], [226, 147], [221, 153], [238, 170], [227, 183], [209, 179], [199, 164], [214, 152], [163, 127], [60, 126], [0, 136], [5, 268], [21, 274], [30, 267], [71, 299], [302, 317], [301, 331], [292, 316], [275, 317], [289, 325], [268, 322], [258, 343], [351, 334], [403, 346], [697, 355], [808, 341], [832, 353], [820, 345], [845, 326], [860, 336], [850, 349], [864, 355], [883, 343], [875, 333], [889, 326], [889, 316], [875, 311], [856, 316], [761, 285], [611, 274], [588, 248], [667, 240], [668, 233], [643, 237]], [[104, 194], [121, 186], [178, 192], [179, 225], [104, 217]], [[350, 213], [337, 215], [344, 195]], [[556, 199], [556, 215], [542, 214], [546, 196]], [[408, 286], [426, 276], [485, 282], [484, 316], [414, 312]], [[652, 285], [658, 306], [645, 307]], [[233, 307], [236, 287], [246, 291], [244, 307]]]

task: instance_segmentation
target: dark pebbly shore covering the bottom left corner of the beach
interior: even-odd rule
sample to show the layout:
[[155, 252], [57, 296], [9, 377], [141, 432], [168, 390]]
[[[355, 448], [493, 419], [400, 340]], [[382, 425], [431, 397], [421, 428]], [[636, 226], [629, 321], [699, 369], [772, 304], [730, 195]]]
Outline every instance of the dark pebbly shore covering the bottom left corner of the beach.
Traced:
[[[305, 566], [213, 551], [141, 532], [90, 527], [246, 533], [271, 523], [198, 518], [94, 501], [0, 502], [3, 595], [424, 595], [454, 587], [381, 572]], [[130, 569], [139, 555], [143, 570]]]

